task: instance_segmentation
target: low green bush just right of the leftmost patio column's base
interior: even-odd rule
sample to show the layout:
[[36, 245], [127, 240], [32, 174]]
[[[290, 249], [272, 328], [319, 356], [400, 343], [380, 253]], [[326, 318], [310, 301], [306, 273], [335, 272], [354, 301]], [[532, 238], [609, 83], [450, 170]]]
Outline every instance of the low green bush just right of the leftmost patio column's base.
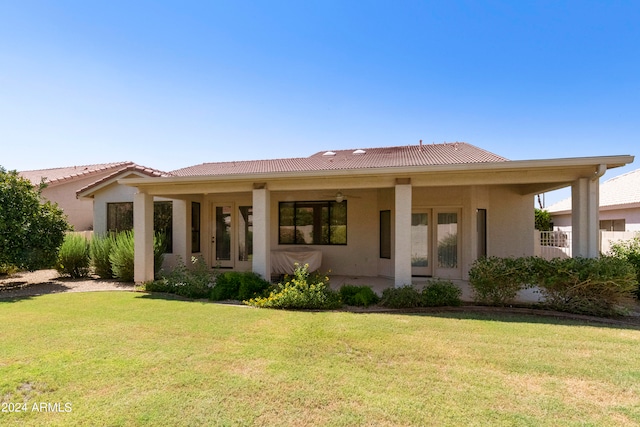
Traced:
[[187, 298], [208, 298], [214, 286], [214, 274], [202, 257], [191, 258], [191, 268], [183, 262], [167, 274], [145, 284], [149, 292], [167, 292]]

